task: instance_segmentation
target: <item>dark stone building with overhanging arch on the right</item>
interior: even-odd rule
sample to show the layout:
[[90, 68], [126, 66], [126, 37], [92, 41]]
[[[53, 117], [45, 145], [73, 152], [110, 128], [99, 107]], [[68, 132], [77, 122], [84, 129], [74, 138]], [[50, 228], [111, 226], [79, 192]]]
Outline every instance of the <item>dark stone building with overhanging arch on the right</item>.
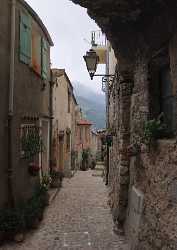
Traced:
[[[125, 229], [133, 250], [175, 250], [177, 3], [73, 2], [88, 8], [117, 59], [108, 127], [114, 222]], [[158, 119], [164, 126], [157, 135]]]

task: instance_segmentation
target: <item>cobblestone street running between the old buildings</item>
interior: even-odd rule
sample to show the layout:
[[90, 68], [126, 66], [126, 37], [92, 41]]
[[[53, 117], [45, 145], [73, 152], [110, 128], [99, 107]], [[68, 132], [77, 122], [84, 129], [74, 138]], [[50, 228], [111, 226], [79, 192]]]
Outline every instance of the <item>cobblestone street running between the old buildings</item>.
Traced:
[[92, 174], [77, 172], [66, 179], [39, 229], [26, 235], [24, 243], [1, 249], [127, 250], [124, 238], [113, 233], [103, 180]]

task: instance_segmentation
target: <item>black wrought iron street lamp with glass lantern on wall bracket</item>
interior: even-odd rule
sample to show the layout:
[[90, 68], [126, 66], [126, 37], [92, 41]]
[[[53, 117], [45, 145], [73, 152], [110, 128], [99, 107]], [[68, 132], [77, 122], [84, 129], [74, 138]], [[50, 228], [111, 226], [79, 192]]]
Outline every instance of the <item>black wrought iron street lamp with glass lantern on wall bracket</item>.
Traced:
[[[96, 51], [93, 49], [90, 49], [87, 51], [86, 55], [84, 56], [84, 60], [87, 66], [87, 70], [89, 72], [91, 80], [93, 80], [93, 77], [95, 76], [102, 76], [102, 88], [104, 89], [105, 83], [108, 84], [112, 83], [114, 75], [109, 74], [98, 74], [96, 75], [97, 66], [99, 63], [99, 56], [97, 55]], [[104, 91], [105, 92], [105, 91]]]

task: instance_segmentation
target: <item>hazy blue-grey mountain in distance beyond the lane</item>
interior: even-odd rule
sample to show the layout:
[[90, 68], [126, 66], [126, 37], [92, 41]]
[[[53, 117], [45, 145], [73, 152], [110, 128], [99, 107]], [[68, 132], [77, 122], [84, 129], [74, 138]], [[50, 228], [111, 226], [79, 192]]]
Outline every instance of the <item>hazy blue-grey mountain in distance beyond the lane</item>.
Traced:
[[105, 95], [94, 92], [80, 82], [72, 82], [74, 94], [85, 118], [93, 122], [95, 129], [105, 128]]

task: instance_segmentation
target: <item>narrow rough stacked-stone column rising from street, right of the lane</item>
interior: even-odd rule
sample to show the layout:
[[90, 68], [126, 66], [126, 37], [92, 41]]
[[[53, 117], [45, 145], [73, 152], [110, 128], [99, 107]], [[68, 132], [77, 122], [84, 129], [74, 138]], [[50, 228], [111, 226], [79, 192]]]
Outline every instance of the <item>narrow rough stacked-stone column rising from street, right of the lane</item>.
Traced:
[[118, 131], [118, 172], [117, 201], [113, 211], [114, 222], [122, 227], [125, 222], [129, 189], [129, 156], [127, 148], [130, 144], [130, 107], [133, 81], [127, 72], [119, 78], [119, 131]]

